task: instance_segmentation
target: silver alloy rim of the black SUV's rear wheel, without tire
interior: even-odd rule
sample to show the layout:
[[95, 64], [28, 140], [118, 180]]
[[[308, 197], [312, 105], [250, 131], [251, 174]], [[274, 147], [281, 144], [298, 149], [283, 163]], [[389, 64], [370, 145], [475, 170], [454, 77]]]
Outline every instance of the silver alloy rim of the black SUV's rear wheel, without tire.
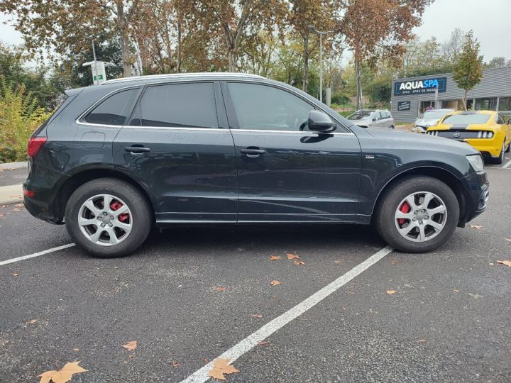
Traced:
[[92, 243], [112, 246], [125, 240], [133, 227], [131, 211], [119, 197], [97, 194], [85, 201], [78, 212], [80, 231]]

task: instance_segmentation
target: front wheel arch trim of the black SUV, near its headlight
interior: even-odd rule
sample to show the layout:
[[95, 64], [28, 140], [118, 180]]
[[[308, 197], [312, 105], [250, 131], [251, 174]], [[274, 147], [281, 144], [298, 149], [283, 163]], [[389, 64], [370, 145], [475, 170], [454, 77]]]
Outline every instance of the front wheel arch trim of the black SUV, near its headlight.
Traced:
[[463, 226], [464, 218], [466, 216], [466, 191], [463, 188], [463, 184], [456, 177], [455, 174], [449, 172], [449, 170], [445, 170], [441, 167], [434, 166], [421, 166], [421, 167], [413, 167], [412, 169], [405, 170], [399, 174], [396, 174], [394, 177], [388, 180], [388, 182], [380, 189], [378, 196], [375, 199], [375, 203], [373, 204], [373, 210], [371, 211], [371, 221], [373, 221], [375, 217], [375, 212], [378, 211], [380, 204], [383, 201], [383, 196], [385, 196], [385, 191], [388, 191], [393, 185], [401, 182], [403, 179], [407, 177], [414, 176], [428, 176], [432, 178], [439, 179], [439, 181], [444, 182], [451, 190], [454, 192], [456, 199], [458, 200], [458, 205], [460, 209], [460, 220], [458, 226]]

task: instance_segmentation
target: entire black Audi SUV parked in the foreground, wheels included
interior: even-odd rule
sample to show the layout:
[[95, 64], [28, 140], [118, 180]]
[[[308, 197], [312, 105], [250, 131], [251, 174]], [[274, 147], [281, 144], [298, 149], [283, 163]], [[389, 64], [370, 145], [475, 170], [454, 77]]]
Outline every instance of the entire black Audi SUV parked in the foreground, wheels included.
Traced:
[[394, 248], [426, 252], [486, 208], [469, 145], [361, 128], [263, 77], [144, 76], [66, 93], [28, 143], [25, 204], [99, 257], [136, 250], [153, 226], [209, 223], [373, 223]]

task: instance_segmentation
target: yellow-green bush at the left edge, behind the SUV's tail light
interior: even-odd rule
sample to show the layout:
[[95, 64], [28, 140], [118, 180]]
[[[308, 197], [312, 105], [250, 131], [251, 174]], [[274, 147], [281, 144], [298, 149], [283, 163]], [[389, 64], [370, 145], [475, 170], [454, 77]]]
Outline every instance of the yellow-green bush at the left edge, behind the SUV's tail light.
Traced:
[[49, 116], [24, 84], [0, 74], [0, 162], [24, 160], [28, 138]]

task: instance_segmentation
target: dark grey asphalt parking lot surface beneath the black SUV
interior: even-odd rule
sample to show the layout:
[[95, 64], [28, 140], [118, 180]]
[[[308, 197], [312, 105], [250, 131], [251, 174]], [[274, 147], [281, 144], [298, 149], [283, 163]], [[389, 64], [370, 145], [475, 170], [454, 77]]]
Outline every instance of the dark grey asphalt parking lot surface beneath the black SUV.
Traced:
[[[71, 240], [2, 206], [0, 382], [75, 361], [88, 371], [72, 382], [180, 382], [226, 350], [228, 382], [510, 382], [511, 267], [497, 261], [511, 260], [511, 167], [487, 171], [480, 228], [424, 255], [380, 252], [364, 227], [225, 226], [154, 231], [120, 259], [72, 246], [6, 263]], [[261, 328], [265, 342], [243, 349]]]

